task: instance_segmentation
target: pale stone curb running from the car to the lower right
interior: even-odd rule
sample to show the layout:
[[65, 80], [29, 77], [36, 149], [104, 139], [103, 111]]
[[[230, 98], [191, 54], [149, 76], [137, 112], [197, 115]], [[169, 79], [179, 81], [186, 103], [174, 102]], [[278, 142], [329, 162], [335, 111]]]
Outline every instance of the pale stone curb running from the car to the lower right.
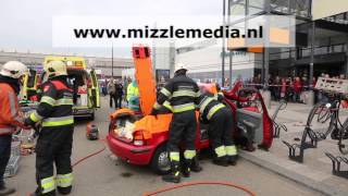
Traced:
[[271, 172], [274, 172], [281, 176], [289, 179], [296, 183], [304, 185], [304, 186], [307, 186], [315, 192], [319, 192], [321, 194], [324, 194], [327, 196], [347, 196], [347, 193], [339, 189], [339, 188], [330, 186], [325, 183], [313, 181], [312, 179], [310, 179], [306, 175], [293, 172], [293, 171], [290, 171], [279, 164], [275, 164], [271, 161], [266, 161], [266, 160], [263, 160], [259, 157], [256, 157], [252, 155], [252, 152], [246, 152], [246, 151], [240, 150], [238, 154], [239, 154], [239, 157], [244, 158], [245, 160], [247, 160], [253, 164], [257, 164], [257, 166], [264, 168]]

